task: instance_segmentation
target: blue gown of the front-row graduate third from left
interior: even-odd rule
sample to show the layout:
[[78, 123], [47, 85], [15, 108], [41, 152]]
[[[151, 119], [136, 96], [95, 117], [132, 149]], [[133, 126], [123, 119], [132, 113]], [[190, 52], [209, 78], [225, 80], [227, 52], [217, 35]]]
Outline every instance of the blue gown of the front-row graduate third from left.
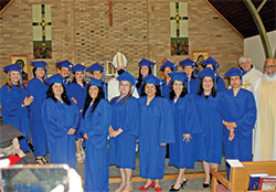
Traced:
[[109, 164], [118, 168], [135, 169], [136, 141], [139, 134], [139, 105], [138, 99], [129, 97], [126, 105], [124, 102], [127, 96], [121, 98], [114, 97], [113, 104], [113, 128], [123, 132], [109, 140]]

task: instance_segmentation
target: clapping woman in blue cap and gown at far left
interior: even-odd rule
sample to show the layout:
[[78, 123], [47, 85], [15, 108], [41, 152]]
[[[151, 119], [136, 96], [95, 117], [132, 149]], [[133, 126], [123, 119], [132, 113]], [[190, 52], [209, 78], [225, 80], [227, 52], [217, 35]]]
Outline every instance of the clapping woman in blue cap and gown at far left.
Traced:
[[23, 134], [23, 138], [19, 138], [19, 143], [21, 150], [28, 152], [30, 151], [28, 106], [33, 102], [33, 97], [20, 83], [22, 68], [18, 64], [4, 66], [3, 71], [8, 74], [7, 83], [0, 89], [3, 125], [11, 124]]

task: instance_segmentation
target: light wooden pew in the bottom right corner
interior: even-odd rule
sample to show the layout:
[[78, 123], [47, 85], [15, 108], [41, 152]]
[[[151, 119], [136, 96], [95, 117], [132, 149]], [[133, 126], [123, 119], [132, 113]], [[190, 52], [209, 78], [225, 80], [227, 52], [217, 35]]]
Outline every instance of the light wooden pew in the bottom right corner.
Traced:
[[[231, 168], [230, 181], [227, 181], [216, 170], [211, 170], [212, 186], [211, 192], [216, 192], [217, 181], [229, 192], [250, 192], [250, 174], [252, 173], [268, 173], [268, 175], [276, 175], [276, 161], [256, 161], [256, 162], [242, 162], [244, 168]], [[217, 190], [219, 191], [219, 190]], [[274, 192], [276, 190], [273, 190]], [[254, 191], [261, 192], [261, 191]], [[266, 191], [268, 192], [268, 191]]]

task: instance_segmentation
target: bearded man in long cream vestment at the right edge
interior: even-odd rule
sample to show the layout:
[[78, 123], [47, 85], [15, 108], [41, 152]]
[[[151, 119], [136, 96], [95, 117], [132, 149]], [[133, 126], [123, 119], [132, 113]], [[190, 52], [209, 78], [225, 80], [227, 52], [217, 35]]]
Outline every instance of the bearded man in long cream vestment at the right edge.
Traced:
[[265, 61], [264, 72], [254, 90], [257, 104], [254, 161], [276, 160], [276, 58]]

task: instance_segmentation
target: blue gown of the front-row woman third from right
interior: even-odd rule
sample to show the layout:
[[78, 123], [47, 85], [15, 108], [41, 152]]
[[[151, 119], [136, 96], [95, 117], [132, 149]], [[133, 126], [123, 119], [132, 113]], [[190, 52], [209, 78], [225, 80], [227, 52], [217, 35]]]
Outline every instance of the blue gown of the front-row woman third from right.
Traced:
[[[172, 115], [174, 120], [174, 138], [176, 142], [170, 143], [170, 166], [177, 168], [193, 168], [194, 157], [198, 152], [193, 148], [193, 137], [201, 132], [199, 120], [197, 119], [198, 107], [194, 96], [187, 94], [179, 97], [177, 103], [170, 100], [172, 105]], [[191, 140], [183, 141], [183, 134], [190, 134]]]

